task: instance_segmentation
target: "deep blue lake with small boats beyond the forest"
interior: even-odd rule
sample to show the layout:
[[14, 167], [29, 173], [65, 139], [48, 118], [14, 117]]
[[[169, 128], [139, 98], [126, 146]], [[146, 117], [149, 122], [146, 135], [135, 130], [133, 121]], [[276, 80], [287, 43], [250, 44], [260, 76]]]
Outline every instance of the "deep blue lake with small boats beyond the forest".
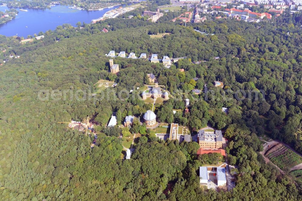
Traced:
[[[19, 11], [22, 8], [14, 8], [19, 11], [18, 15], [6, 24], [0, 24], [0, 34], [5, 36], [18, 34], [18, 36], [26, 38], [27, 35], [38, 34], [40, 31], [54, 30], [57, 26], [64, 23], [72, 26], [76, 26], [79, 21], [81, 23], [91, 23], [92, 19], [102, 17], [105, 12], [120, 6], [104, 8], [101, 11], [83, 11], [69, 9], [68, 7], [70, 6], [56, 5], [44, 10], [23, 8], [27, 9], [27, 12]], [[0, 6], [0, 11], [5, 12], [8, 9], [6, 6]]]

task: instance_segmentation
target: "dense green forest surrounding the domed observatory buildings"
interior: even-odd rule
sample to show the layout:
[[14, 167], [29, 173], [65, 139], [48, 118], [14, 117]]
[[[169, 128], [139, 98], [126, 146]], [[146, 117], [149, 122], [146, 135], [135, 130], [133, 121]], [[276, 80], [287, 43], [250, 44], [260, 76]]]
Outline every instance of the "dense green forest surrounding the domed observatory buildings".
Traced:
[[[301, 176], [289, 171], [281, 175], [271, 163], [266, 164], [259, 154], [263, 147], [258, 138], [267, 133], [302, 153], [300, 136], [295, 136], [302, 119], [300, 16], [285, 13], [259, 24], [220, 19], [187, 27], [169, 20], [151, 23], [116, 18], [76, 28], [64, 24], [45, 32], [43, 40], [26, 44], [16, 37], [0, 37], [0, 47], [8, 55], [20, 55], [0, 66], [0, 198], [301, 200]], [[172, 18], [171, 13], [163, 17]], [[106, 34], [100, 32], [104, 27], [109, 30]], [[150, 37], [157, 33], [171, 34]], [[105, 56], [110, 50], [188, 59], [166, 69], [161, 63], [116, 58], [120, 72], [113, 76]], [[216, 56], [220, 59], [215, 60]], [[203, 60], [206, 62], [192, 63]], [[219, 159], [197, 157], [196, 142], [160, 141], [144, 125], [133, 125], [130, 132], [142, 136], [131, 159], [121, 159], [123, 146], [117, 136], [122, 131], [105, 125], [112, 112], [140, 117], [150, 109], [138, 96], [117, 96], [120, 91], [143, 87], [147, 73], [153, 73], [173, 96], [156, 104], [160, 122], [180, 123], [192, 134], [207, 123], [226, 130], [228, 161], [238, 166], [232, 191], [199, 186], [198, 167], [204, 160]], [[199, 79], [194, 81], [196, 77]], [[94, 93], [99, 79], [114, 80], [117, 87], [92, 98], [71, 96], [77, 90]], [[215, 88], [216, 80], [228, 90]], [[203, 89], [204, 84], [211, 90], [208, 94], [191, 92]], [[41, 94], [47, 96], [53, 90], [68, 94], [41, 100]], [[264, 94], [238, 100], [238, 90], [247, 94], [263, 90]], [[190, 112], [173, 114], [172, 109], [185, 108], [185, 98], [190, 99]], [[221, 107], [229, 108], [227, 116]], [[57, 123], [87, 116], [93, 116], [99, 125], [93, 149], [93, 137]]]

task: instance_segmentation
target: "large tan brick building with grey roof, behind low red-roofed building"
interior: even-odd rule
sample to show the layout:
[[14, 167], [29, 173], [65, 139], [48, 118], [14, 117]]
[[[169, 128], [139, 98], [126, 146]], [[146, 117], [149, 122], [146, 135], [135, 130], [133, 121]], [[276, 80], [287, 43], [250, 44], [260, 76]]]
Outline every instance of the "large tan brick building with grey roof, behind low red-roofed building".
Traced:
[[198, 144], [200, 148], [222, 148], [222, 133], [221, 130], [214, 132], [200, 130], [198, 132]]

